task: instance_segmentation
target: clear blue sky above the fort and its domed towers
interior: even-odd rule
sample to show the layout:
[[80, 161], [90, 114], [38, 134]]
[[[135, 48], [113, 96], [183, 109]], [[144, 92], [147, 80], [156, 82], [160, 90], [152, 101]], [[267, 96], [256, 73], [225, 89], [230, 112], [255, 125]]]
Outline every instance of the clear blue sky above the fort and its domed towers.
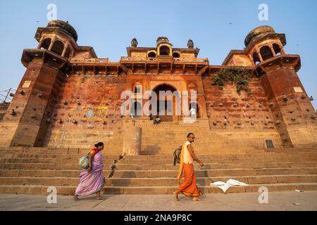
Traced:
[[[157, 37], [166, 36], [175, 47], [187, 47], [192, 39], [200, 57], [220, 65], [231, 49], [244, 48], [244, 38], [254, 27], [271, 25], [286, 34], [287, 53], [301, 56], [299, 77], [307, 94], [316, 98], [317, 109], [315, 0], [0, 0], [0, 89], [18, 86], [25, 72], [21, 53], [37, 46], [35, 32], [49, 22], [46, 7], [51, 3], [57, 6], [57, 18], [75, 27], [77, 44], [93, 46], [99, 58], [111, 61], [126, 56], [133, 37], [139, 46], [155, 46]], [[268, 21], [258, 18], [262, 3], [268, 5]]]

